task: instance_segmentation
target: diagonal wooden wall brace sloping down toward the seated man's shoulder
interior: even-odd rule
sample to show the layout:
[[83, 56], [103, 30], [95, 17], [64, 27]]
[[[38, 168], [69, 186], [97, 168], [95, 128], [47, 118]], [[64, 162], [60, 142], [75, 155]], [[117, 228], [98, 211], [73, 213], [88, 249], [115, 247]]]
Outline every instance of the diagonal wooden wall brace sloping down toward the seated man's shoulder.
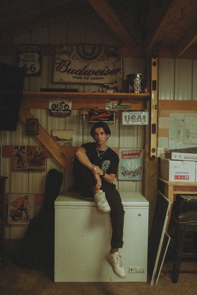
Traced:
[[[27, 109], [21, 105], [19, 112], [20, 119], [26, 124], [27, 118], [34, 118]], [[39, 135], [35, 135], [38, 140], [49, 150], [51, 155], [60, 163], [60, 165], [68, 172], [73, 168], [73, 163], [70, 158], [62, 151], [61, 147], [55, 142], [55, 140], [49, 135], [48, 132], [39, 124]]]

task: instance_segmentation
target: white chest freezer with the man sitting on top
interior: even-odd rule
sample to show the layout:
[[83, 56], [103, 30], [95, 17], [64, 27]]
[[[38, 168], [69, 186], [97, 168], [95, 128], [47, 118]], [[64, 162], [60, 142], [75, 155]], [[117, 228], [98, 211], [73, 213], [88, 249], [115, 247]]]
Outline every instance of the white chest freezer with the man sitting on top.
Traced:
[[117, 277], [106, 261], [112, 226], [110, 212], [76, 192], [55, 200], [55, 282], [146, 282], [148, 201], [137, 192], [120, 192], [125, 210], [123, 248], [126, 278]]

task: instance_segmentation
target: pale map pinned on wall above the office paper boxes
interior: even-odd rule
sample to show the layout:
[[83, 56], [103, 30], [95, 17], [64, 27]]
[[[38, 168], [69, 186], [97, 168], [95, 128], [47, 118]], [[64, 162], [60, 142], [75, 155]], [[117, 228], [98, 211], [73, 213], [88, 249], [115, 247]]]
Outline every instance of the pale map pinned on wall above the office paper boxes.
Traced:
[[169, 150], [197, 146], [197, 115], [170, 114]]

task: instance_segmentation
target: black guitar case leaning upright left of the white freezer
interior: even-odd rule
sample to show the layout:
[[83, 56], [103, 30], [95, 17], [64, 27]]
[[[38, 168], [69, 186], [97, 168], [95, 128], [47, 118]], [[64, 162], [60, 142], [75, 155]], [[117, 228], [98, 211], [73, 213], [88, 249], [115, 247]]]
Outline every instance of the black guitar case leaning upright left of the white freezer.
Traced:
[[42, 208], [28, 224], [18, 250], [20, 266], [43, 268], [50, 276], [54, 276], [54, 201], [59, 195], [62, 179], [61, 172], [49, 170]]

